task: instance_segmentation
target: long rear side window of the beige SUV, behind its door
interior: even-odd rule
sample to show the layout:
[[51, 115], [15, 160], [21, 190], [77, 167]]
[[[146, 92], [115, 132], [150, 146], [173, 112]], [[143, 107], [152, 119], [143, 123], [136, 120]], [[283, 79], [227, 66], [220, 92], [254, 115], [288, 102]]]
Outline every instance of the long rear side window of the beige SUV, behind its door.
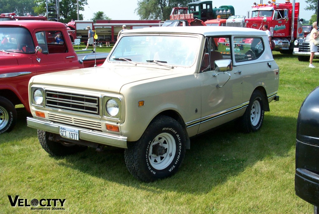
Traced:
[[258, 37], [234, 37], [234, 53], [236, 62], [255, 60], [264, 51], [264, 44]]

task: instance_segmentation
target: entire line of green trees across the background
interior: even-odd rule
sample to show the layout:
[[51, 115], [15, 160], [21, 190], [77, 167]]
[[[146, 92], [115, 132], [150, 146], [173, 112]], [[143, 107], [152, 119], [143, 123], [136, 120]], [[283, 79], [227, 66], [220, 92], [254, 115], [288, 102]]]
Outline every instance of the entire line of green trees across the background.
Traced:
[[[135, 14], [140, 19], [169, 19], [170, 12], [173, 7], [185, 7], [188, 3], [196, 2], [198, 0], [140, 0], [137, 2], [137, 8], [134, 10]], [[309, 23], [317, 20], [317, 0], [306, 0], [308, 5], [305, 10], [315, 11], [311, 16]], [[87, 5], [87, 0], [78, 0], [79, 11], [84, 10]], [[59, 0], [60, 5], [60, 22], [69, 22], [71, 19], [78, 19], [77, 14], [77, 0]], [[31, 15], [46, 15], [46, 0], [1, 0], [0, 13], [15, 12], [19, 16]], [[119, 7], [120, 11], [121, 8]], [[80, 20], [83, 20], [83, 15], [79, 14]], [[103, 11], [93, 13], [92, 20], [97, 19], [111, 19]]]

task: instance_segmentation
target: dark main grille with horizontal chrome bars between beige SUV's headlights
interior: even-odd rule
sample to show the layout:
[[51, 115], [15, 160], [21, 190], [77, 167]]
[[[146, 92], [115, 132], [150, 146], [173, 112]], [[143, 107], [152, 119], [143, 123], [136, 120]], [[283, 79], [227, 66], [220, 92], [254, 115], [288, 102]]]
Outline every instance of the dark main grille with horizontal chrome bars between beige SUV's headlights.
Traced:
[[98, 96], [61, 91], [46, 91], [45, 96], [46, 107], [90, 115], [100, 115], [100, 98]]

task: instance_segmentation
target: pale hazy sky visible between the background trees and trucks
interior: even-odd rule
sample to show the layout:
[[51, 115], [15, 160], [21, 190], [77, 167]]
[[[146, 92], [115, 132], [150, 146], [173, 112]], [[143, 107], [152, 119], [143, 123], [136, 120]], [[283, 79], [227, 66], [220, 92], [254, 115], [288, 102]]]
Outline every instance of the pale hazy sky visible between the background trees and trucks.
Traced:
[[[251, 9], [251, 5], [254, 1], [258, 4], [260, 0], [224, 0], [222, 4], [216, 3], [212, 0], [213, 7], [219, 7], [221, 5], [232, 5], [235, 9], [236, 15], [247, 15], [247, 11]], [[106, 0], [87, 0], [88, 5], [84, 7], [84, 11], [80, 11], [84, 16], [84, 20], [91, 20], [93, 13], [103, 11], [106, 16], [113, 20], [138, 20], [134, 10], [137, 8], [138, 0], [124, 0], [124, 1], [106, 1]], [[268, 0], [263, 0], [263, 3], [267, 3]], [[277, 3], [284, 3], [285, 0], [276, 0]], [[293, 0], [290, 0], [293, 2]], [[300, 3], [299, 18], [309, 20], [311, 15], [315, 11], [306, 11], [304, 8], [307, 6], [305, 0], [295, 0]], [[186, 5], [185, 5], [186, 6]]]

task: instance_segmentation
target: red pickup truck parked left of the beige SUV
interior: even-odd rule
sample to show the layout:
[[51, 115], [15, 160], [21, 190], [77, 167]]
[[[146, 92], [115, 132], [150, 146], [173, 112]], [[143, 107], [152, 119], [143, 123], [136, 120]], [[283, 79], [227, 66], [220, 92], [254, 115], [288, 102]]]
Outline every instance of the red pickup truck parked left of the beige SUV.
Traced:
[[30, 111], [28, 83], [32, 76], [101, 65], [107, 57], [107, 53], [93, 55], [100, 58], [85, 55], [78, 59], [63, 23], [1, 21], [0, 134], [12, 130], [17, 119], [15, 105], [23, 104]]

